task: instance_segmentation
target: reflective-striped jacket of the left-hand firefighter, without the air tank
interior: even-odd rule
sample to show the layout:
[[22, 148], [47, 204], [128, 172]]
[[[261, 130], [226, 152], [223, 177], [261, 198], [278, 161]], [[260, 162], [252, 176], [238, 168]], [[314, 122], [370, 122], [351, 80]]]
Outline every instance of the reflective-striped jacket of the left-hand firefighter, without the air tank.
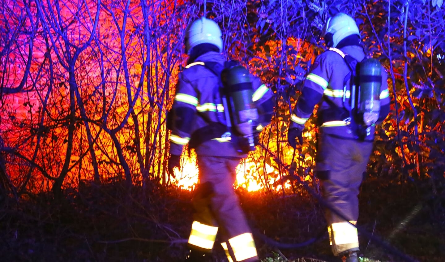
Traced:
[[[206, 52], [179, 74], [179, 82], [170, 113], [170, 153], [180, 155], [184, 145], [202, 156], [246, 157], [237, 151], [236, 139], [227, 136], [227, 122], [218, 86], [220, 77], [206, 68], [206, 62], [223, 66], [225, 58], [217, 52]], [[250, 75], [260, 125], [257, 132], [270, 123], [273, 113], [272, 93], [258, 77]], [[230, 121], [230, 120], [229, 120]]]

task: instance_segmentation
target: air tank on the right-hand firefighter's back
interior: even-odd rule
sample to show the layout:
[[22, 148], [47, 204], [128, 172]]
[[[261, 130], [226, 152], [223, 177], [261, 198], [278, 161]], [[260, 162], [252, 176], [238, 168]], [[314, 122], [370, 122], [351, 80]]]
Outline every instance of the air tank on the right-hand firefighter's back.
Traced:
[[358, 113], [363, 116], [363, 125], [376, 123], [380, 113], [380, 86], [382, 71], [380, 62], [373, 58], [360, 62], [360, 90]]

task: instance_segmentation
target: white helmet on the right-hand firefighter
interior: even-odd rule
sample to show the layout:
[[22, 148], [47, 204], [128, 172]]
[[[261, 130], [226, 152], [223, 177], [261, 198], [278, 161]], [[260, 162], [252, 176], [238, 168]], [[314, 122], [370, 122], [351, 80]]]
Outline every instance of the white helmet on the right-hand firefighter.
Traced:
[[361, 40], [356, 21], [344, 13], [337, 13], [335, 16], [331, 16], [321, 33], [328, 47], [336, 47], [341, 40], [351, 35], [357, 35]]

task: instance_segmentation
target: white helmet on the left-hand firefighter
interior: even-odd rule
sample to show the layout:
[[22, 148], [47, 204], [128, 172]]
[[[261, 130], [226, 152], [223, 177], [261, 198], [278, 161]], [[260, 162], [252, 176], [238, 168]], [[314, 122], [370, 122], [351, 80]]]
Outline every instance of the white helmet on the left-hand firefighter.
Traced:
[[198, 44], [208, 43], [214, 44], [219, 48], [219, 52], [223, 51], [223, 39], [219, 25], [213, 20], [202, 17], [193, 21], [186, 27], [186, 53], [190, 55], [192, 48]]

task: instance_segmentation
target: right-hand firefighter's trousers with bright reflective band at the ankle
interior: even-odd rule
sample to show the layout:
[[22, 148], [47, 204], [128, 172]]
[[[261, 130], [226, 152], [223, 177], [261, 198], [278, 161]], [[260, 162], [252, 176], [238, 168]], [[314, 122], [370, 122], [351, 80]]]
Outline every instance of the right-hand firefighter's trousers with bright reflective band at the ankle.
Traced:
[[335, 256], [344, 251], [358, 251], [358, 194], [363, 174], [372, 153], [372, 141], [358, 141], [320, 133], [316, 174], [325, 201], [329, 242]]

